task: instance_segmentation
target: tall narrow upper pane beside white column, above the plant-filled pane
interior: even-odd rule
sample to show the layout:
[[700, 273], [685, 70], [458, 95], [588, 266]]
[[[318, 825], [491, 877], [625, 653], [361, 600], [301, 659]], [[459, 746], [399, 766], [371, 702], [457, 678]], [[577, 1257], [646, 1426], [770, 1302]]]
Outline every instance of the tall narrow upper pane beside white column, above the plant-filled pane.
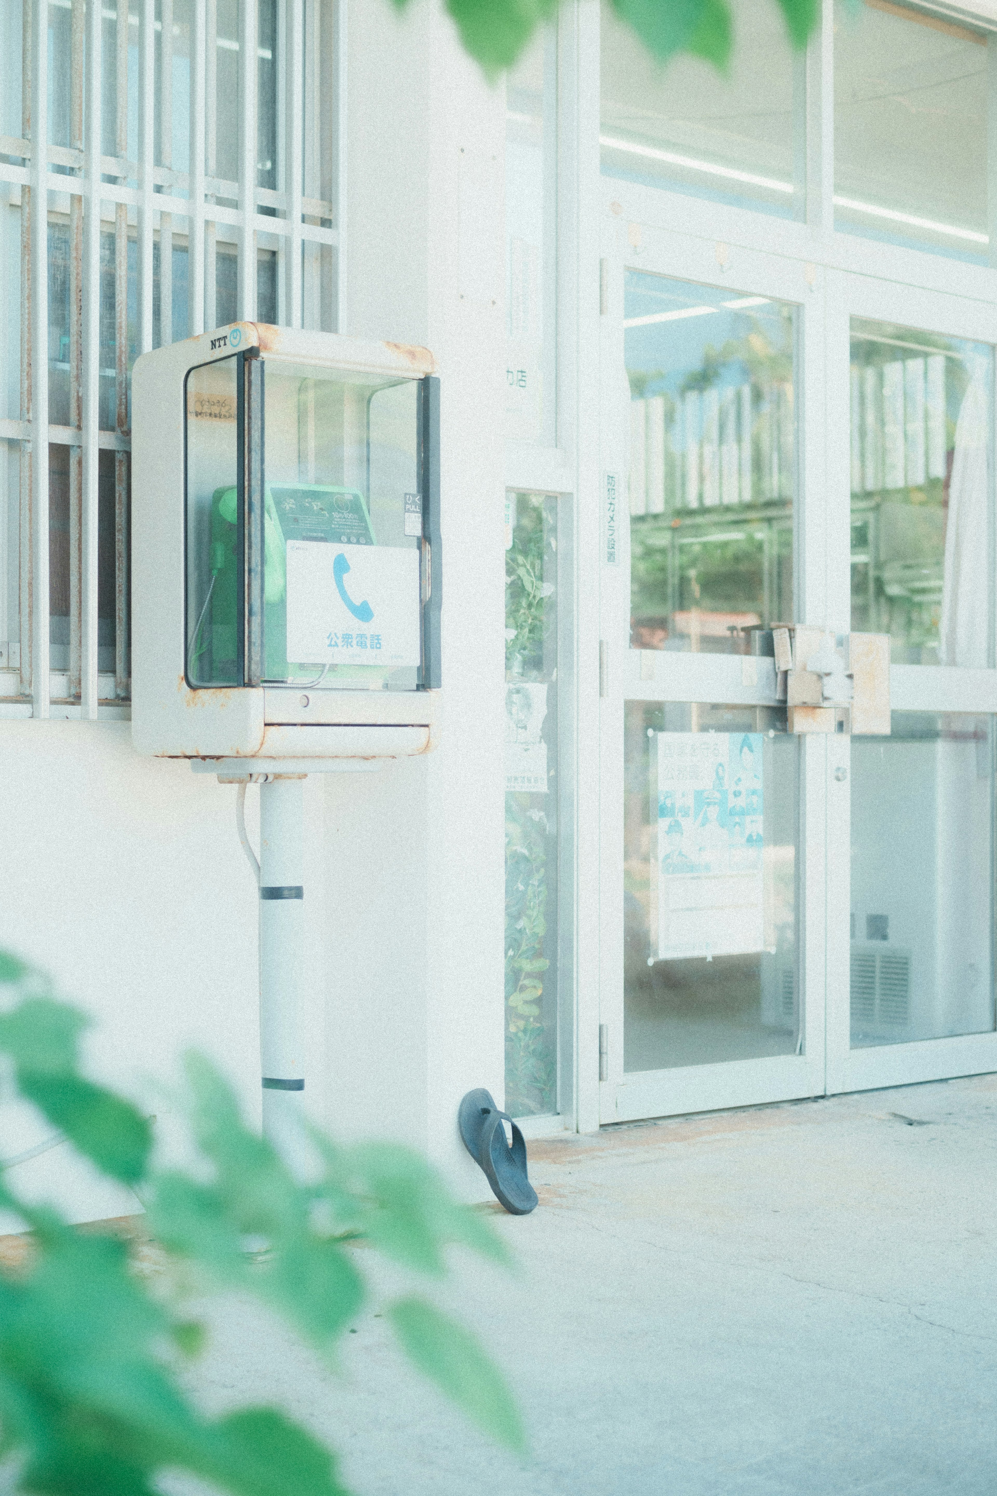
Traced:
[[553, 446], [558, 42], [547, 28], [505, 88], [505, 435]]

